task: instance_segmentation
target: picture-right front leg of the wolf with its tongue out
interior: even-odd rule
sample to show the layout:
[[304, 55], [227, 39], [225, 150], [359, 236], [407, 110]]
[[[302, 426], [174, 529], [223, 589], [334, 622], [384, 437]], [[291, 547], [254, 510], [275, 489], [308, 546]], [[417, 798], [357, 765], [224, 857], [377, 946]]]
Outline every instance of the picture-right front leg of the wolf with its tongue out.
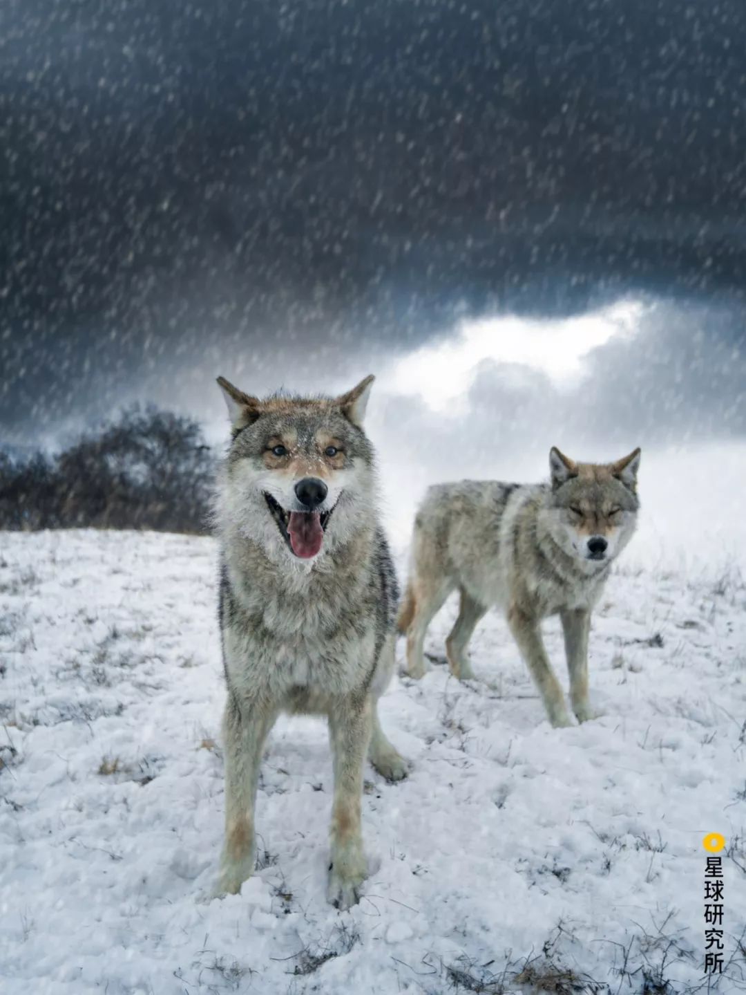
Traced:
[[361, 810], [363, 764], [371, 739], [373, 701], [366, 697], [340, 700], [329, 714], [334, 760], [334, 807], [331, 828], [331, 866], [327, 896], [338, 908], [360, 900], [368, 865], [363, 852]]

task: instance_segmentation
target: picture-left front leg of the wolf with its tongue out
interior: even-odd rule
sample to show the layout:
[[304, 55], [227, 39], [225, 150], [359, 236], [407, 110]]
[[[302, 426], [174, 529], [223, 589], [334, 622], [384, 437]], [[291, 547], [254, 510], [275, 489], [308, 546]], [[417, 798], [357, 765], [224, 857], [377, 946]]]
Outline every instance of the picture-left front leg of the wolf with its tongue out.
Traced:
[[254, 869], [254, 803], [261, 750], [276, 712], [228, 692], [223, 717], [225, 841], [219, 894], [234, 895]]

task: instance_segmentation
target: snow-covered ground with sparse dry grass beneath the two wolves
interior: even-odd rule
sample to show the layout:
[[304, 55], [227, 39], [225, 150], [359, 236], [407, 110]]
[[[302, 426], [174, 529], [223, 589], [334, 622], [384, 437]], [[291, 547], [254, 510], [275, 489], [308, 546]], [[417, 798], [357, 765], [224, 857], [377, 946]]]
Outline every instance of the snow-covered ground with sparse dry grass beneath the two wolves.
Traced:
[[[215, 546], [152, 533], [0, 534], [0, 990], [678, 993], [703, 978], [702, 837], [723, 853], [726, 973], [746, 988], [746, 588], [632, 567], [595, 618], [606, 716], [551, 729], [502, 620], [484, 683], [439, 659], [381, 701], [412, 773], [372, 769], [372, 873], [326, 903], [331, 762], [282, 719], [260, 852], [210, 900], [223, 829]], [[564, 680], [557, 626], [549, 652]], [[716, 976], [715, 976], [716, 978]]]

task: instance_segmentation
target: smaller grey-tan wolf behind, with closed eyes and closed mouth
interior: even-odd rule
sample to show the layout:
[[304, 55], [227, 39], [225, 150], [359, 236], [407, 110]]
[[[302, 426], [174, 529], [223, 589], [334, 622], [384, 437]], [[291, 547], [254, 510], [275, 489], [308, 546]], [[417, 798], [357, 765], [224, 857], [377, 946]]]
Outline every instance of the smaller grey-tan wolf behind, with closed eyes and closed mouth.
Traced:
[[640, 456], [636, 449], [616, 463], [576, 463], [552, 447], [548, 484], [463, 481], [430, 488], [416, 515], [398, 616], [409, 676], [423, 676], [425, 632], [457, 589], [460, 611], [446, 640], [455, 677], [474, 678], [469, 640], [488, 608], [499, 607], [549, 721], [572, 724], [541, 640], [542, 619], [558, 613], [572, 709], [580, 722], [595, 717], [588, 699], [590, 616], [635, 530]]

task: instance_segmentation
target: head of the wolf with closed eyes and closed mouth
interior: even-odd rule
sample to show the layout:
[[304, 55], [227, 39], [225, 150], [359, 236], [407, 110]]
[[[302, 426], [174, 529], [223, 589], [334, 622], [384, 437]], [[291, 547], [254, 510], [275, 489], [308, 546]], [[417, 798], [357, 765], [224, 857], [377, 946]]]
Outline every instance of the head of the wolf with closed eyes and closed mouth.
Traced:
[[581, 560], [613, 559], [632, 538], [640, 501], [640, 450], [616, 463], [575, 463], [549, 453], [548, 514], [554, 537]]

